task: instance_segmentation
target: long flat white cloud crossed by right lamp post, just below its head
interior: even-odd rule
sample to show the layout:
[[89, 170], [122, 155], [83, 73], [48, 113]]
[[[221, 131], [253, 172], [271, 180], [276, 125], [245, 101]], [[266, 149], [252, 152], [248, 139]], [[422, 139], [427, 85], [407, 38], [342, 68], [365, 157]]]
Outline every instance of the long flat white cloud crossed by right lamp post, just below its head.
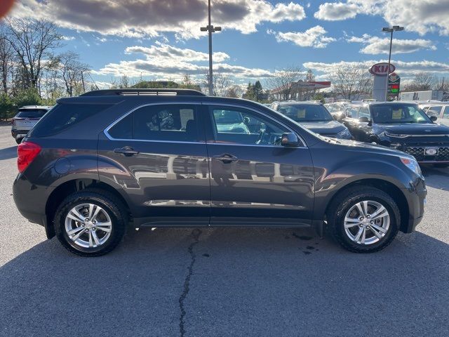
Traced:
[[[363, 54], [377, 55], [389, 53], [390, 40], [387, 37], [371, 37], [368, 34], [363, 34], [363, 37], [348, 37], [347, 41], [363, 44], [364, 47], [360, 50]], [[414, 53], [422, 49], [436, 51], [436, 46], [434, 46], [434, 42], [431, 40], [394, 39], [391, 53]]]

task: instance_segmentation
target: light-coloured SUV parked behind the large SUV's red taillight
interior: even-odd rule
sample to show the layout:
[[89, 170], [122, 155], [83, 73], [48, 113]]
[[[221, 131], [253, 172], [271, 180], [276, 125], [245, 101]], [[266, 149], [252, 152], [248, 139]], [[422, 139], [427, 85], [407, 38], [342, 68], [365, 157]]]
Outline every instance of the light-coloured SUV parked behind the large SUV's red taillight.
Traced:
[[11, 136], [15, 142], [20, 144], [23, 138], [31, 128], [46, 114], [51, 107], [40, 105], [29, 105], [20, 107], [18, 113], [13, 117], [13, 126], [11, 127]]

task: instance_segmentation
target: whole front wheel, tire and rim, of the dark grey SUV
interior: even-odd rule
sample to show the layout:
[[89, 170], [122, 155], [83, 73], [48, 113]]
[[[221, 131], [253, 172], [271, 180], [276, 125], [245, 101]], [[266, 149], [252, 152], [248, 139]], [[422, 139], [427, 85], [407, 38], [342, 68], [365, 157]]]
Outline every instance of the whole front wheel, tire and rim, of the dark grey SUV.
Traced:
[[351, 187], [333, 201], [328, 211], [333, 237], [356, 253], [384, 249], [396, 237], [400, 221], [394, 199], [369, 186]]

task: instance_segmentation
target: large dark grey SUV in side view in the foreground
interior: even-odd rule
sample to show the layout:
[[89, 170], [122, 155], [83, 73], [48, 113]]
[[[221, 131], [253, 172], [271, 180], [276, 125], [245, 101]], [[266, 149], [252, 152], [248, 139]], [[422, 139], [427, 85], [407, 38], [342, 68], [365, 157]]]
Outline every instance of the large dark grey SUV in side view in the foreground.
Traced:
[[[217, 112], [260, 127], [222, 132]], [[111, 251], [128, 225], [326, 225], [344, 248], [370, 253], [415, 230], [427, 194], [409, 154], [180, 89], [61, 98], [18, 146], [18, 170], [20, 213], [81, 256]]]

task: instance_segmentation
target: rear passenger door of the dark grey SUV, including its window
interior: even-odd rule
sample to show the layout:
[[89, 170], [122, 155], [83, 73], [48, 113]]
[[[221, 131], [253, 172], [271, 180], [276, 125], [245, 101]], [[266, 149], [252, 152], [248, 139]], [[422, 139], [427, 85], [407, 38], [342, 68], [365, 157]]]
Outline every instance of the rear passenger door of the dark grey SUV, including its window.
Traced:
[[140, 223], [208, 225], [208, 156], [199, 104], [149, 104], [100, 135], [100, 179], [121, 185]]

